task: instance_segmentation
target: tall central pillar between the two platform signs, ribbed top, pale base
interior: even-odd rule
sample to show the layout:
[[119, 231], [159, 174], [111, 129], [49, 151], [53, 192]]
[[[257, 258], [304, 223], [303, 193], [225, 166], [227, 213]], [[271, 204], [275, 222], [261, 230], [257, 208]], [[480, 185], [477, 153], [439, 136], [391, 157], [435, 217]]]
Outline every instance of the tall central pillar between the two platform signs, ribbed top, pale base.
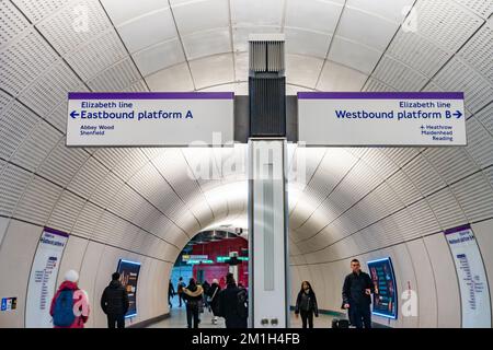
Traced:
[[249, 326], [289, 327], [284, 36], [250, 37]]

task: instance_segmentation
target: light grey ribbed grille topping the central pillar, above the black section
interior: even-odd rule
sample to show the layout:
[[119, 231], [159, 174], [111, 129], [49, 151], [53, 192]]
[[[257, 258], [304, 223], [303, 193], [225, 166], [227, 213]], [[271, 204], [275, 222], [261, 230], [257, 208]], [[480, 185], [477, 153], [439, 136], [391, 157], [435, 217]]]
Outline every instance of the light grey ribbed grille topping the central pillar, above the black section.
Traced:
[[250, 42], [251, 72], [284, 72], [284, 42]]

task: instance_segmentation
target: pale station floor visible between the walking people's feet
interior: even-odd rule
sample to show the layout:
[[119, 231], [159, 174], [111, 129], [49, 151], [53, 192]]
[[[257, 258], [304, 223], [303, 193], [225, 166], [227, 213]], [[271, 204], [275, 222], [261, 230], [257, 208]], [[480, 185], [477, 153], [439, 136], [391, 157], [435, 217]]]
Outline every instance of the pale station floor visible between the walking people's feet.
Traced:
[[[332, 316], [330, 315], [319, 315], [319, 317], [313, 318], [313, 327], [314, 328], [330, 328]], [[225, 319], [218, 317], [217, 325], [213, 325], [213, 314], [207, 310], [200, 314], [200, 323], [198, 324], [199, 328], [226, 328]], [[301, 328], [301, 318], [296, 318], [295, 313], [291, 313], [291, 328]], [[177, 305], [173, 304], [173, 307], [170, 310], [170, 317], [152, 324], [149, 328], [186, 328], [186, 311], [185, 305], [182, 307], [177, 307]]]

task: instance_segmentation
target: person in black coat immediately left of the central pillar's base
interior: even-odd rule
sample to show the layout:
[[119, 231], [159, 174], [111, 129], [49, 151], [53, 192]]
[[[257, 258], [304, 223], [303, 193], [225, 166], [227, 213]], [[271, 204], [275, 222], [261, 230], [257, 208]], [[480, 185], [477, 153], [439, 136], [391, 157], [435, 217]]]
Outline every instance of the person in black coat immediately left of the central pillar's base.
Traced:
[[226, 328], [246, 328], [246, 289], [237, 287], [232, 273], [227, 275], [226, 284], [226, 289], [219, 293], [219, 316], [225, 317]]

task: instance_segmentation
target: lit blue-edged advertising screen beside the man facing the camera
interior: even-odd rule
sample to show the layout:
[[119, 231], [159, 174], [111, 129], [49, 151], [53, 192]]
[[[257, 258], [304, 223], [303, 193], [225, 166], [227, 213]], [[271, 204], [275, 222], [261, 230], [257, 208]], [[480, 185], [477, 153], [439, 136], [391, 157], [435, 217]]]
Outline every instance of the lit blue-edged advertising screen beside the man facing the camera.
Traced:
[[368, 261], [368, 270], [375, 285], [372, 314], [397, 318], [397, 287], [390, 258]]

